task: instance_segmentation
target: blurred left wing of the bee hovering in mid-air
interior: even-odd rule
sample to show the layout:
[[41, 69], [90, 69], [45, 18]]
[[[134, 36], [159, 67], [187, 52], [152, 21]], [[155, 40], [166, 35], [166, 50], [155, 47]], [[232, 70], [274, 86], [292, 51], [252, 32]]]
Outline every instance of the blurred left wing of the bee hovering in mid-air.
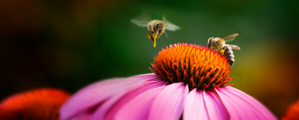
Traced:
[[131, 19], [131, 22], [137, 24], [138, 26], [146, 26], [148, 22], [152, 20], [151, 16], [145, 10], [135, 18]]

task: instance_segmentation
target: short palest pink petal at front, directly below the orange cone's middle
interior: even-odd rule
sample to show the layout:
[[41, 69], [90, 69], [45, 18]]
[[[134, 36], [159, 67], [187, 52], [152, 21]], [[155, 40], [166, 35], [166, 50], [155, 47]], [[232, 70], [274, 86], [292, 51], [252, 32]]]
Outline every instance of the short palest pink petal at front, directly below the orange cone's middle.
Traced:
[[194, 88], [186, 97], [183, 119], [209, 119], [201, 90]]

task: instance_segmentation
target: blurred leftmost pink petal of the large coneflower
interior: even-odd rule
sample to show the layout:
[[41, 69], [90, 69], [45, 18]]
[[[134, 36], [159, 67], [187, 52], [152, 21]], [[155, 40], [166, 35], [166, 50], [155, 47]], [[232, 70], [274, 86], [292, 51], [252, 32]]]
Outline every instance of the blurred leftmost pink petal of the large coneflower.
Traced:
[[[142, 74], [143, 76], [154, 76], [155, 74]], [[156, 76], [156, 75], [155, 75]], [[60, 119], [78, 116], [89, 116], [92, 108], [100, 105], [107, 98], [124, 91], [128, 87], [144, 81], [140, 78], [114, 78], [102, 80], [84, 87], [75, 93], [60, 109]]]

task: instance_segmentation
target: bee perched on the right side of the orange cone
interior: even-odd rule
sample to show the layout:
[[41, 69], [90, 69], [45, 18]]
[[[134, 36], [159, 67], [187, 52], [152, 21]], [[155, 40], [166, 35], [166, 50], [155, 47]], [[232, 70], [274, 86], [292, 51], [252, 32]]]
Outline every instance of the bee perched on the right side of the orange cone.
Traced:
[[230, 34], [223, 38], [210, 37], [207, 42], [207, 47], [220, 52], [227, 59], [227, 62], [232, 66], [234, 63], [234, 55], [232, 49], [240, 49], [237, 45], [226, 44], [225, 42], [232, 41], [238, 33]]

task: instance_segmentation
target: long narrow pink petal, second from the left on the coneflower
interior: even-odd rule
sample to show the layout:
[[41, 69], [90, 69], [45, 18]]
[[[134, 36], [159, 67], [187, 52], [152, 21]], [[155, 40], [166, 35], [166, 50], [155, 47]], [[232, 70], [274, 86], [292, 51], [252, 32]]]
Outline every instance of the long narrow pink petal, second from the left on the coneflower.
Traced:
[[92, 119], [114, 119], [118, 110], [134, 97], [152, 88], [165, 85], [166, 81], [159, 78], [157, 81], [140, 82], [123, 92], [111, 97], [103, 103], [95, 112]]

